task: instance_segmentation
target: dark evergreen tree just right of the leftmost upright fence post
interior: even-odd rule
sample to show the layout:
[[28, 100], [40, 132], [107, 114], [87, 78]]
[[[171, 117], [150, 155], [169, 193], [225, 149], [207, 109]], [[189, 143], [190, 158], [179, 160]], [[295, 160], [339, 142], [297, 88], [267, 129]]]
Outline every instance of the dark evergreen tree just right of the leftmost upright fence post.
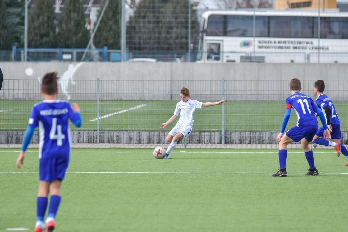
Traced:
[[52, 1], [35, 0], [28, 20], [28, 47], [57, 47]]

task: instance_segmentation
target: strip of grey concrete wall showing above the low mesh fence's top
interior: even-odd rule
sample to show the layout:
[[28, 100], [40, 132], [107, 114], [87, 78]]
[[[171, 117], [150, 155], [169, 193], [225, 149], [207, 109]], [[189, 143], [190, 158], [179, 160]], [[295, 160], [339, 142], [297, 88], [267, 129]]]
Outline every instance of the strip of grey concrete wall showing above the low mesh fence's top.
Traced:
[[[0, 62], [5, 79], [37, 79], [46, 72], [63, 75], [74, 62]], [[25, 74], [33, 69], [31, 76]], [[344, 63], [146, 63], [86, 62], [75, 80], [347, 80]]]

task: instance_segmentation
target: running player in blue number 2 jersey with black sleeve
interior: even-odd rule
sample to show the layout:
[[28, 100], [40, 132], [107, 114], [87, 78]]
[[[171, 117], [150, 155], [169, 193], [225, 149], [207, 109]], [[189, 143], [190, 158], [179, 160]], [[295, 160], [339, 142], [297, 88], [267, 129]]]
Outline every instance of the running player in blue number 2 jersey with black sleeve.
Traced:
[[[313, 142], [316, 144], [321, 144], [325, 146], [332, 146], [335, 148], [337, 152], [337, 156], [340, 156], [340, 153], [348, 157], [348, 150], [345, 146], [340, 142], [341, 138], [341, 129], [340, 129], [340, 119], [336, 113], [335, 106], [333, 105], [331, 99], [324, 94], [325, 83], [323, 80], [317, 80], [314, 83], [314, 94], [317, 95], [317, 99], [315, 102], [318, 107], [323, 111], [326, 116], [327, 125], [329, 129], [331, 129], [331, 139], [332, 141], [325, 140], [323, 138], [323, 127], [320, 127], [313, 138]], [[343, 165], [348, 166], [348, 163]]]

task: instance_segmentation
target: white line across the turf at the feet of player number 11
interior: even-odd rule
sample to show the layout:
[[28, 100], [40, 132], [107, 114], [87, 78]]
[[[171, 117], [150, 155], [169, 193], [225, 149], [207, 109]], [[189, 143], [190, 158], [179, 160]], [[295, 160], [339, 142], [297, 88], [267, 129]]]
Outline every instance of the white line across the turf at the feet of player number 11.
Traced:
[[[0, 173], [39, 173], [39, 172], [0, 172]], [[65, 172], [65, 173], [114, 173], [114, 174], [272, 174], [274, 172]], [[304, 174], [307, 172], [288, 172]], [[348, 172], [319, 172], [319, 174], [348, 174]]]

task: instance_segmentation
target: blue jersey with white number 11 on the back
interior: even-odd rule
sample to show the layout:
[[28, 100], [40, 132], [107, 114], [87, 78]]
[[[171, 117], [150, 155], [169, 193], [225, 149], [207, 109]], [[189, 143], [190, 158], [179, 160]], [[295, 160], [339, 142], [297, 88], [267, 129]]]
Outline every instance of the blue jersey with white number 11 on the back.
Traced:
[[315, 109], [318, 108], [309, 96], [295, 92], [286, 99], [286, 108], [292, 108], [297, 115], [296, 126], [318, 125]]

